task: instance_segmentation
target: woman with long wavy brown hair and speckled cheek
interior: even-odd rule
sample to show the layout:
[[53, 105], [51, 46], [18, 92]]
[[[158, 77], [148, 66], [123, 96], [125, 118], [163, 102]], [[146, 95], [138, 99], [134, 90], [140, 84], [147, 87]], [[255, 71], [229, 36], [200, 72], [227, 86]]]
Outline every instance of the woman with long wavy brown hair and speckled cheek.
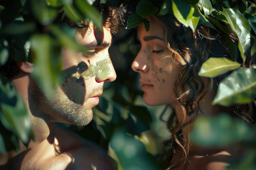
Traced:
[[173, 117], [168, 121], [174, 152], [167, 169], [224, 169], [231, 159], [230, 155], [241, 154], [239, 147], [198, 148], [189, 141], [189, 133], [199, 115], [227, 112], [252, 122], [253, 104], [238, 105], [236, 112], [232, 107], [211, 105], [222, 77], [210, 79], [198, 76], [202, 63], [209, 57], [230, 56], [221, 35], [203, 25], [193, 32], [172, 15], [146, 19], [150, 22], [150, 29], [146, 32], [143, 24], [138, 27], [141, 49], [132, 63], [132, 69], [140, 74], [139, 82], [146, 104], [171, 104], [175, 110], [177, 124], [172, 125]]

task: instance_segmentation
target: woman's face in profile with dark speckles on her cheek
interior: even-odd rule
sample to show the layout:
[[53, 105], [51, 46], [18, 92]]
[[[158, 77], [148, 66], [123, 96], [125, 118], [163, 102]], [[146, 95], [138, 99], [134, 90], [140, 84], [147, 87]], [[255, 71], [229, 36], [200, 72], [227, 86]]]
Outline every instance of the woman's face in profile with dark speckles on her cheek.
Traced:
[[141, 49], [132, 62], [132, 69], [140, 74], [141, 90], [144, 91], [144, 102], [150, 106], [174, 104], [174, 82], [180, 66], [173, 61], [164, 41], [164, 28], [156, 25], [152, 19], [150, 30], [144, 25], [138, 27], [138, 38]]

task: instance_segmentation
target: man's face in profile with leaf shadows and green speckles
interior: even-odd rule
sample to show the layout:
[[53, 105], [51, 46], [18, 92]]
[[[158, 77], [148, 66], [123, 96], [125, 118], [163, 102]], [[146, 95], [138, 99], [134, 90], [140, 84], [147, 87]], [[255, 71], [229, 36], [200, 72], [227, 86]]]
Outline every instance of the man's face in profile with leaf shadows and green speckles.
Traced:
[[76, 40], [91, 54], [62, 50], [63, 84], [48, 103], [54, 110], [54, 115], [48, 116], [52, 121], [86, 125], [93, 118], [92, 108], [99, 104], [104, 82], [116, 79], [108, 53], [112, 35], [109, 29], [103, 27], [102, 33], [90, 23], [88, 28], [78, 30]]

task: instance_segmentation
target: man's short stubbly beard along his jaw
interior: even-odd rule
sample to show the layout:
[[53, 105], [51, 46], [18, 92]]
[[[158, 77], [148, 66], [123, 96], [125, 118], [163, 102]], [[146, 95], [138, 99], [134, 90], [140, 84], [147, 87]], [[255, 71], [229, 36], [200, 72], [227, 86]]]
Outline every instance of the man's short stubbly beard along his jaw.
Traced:
[[[90, 93], [88, 92], [88, 95], [85, 95], [85, 90], [81, 93], [81, 86], [74, 86], [74, 84], [70, 84], [69, 88], [58, 86], [54, 97], [47, 99], [36, 81], [31, 82], [29, 86], [29, 107], [32, 115], [47, 122], [60, 122], [76, 126], [85, 126], [92, 121], [94, 106], [88, 102], [90, 100], [88, 97], [94, 96], [95, 93], [103, 89], [102, 86], [94, 88]], [[80, 95], [74, 95], [74, 91], [79, 91]], [[80, 97], [80, 99], [75, 97]]]

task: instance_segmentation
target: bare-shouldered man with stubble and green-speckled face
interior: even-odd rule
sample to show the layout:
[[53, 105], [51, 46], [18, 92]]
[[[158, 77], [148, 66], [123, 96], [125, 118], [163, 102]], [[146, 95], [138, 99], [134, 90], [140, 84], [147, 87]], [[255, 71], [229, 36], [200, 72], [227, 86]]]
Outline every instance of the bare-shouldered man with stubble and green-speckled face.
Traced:
[[47, 99], [31, 76], [33, 64], [16, 62], [18, 72], [9, 80], [24, 98], [35, 139], [29, 141], [28, 148], [20, 142], [20, 153], [0, 155], [0, 169], [116, 169], [105, 150], [55, 125], [55, 122], [79, 126], [90, 123], [92, 108], [99, 103], [104, 82], [116, 79], [108, 53], [112, 42], [110, 31], [114, 30], [112, 23], [116, 23], [112, 13], [116, 15], [117, 11], [104, 16], [102, 32], [92, 22], [78, 28], [76, 40], [91, 54], [74, 52], [68, 47], [62, 49], [64, 81], [52, 99]]

